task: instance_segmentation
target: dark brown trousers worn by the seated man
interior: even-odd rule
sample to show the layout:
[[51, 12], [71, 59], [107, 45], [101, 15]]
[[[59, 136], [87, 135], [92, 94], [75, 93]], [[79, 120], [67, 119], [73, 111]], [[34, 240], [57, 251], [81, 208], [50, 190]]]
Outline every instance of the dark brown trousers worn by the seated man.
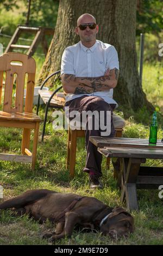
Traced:
[[[104, 99], [100, 97], [94, 96], [82, 96], [76, 99], [72, 99], [66, 102], [65, 106], [69, 107], [69, 112], [71, 111], [78, 111], [80, 113], [80, 118], [82, 118], [82, 111], [104, 111], [104, 124], [106, 125], [106, 111], [111, 111], [111, 133], [107, 137], [114, 137], [115, 136], [115, 129], [114, 123], [112, 121], [112, 111], [115, 109], [115, 104], [108, 104], [104, 101]], [[67, 115], [67, 114], [66, 114]], [[99, 115], [100, 117], [100, 115]], [[71, 120], [71, 118], [70, 118]], [[82, 120], [82, 119], [80, 119]], [[100, 120], [99, 120], [100, 122]], [[86, 144], [86, 165], [83, 171], [85, 172], [92, 172], [97, 176], [102, 176], [101, 171], [101, 163], [102, 163], [102, 154], [97, 151], [97, 147], [89, 141], [90, 136], [101, 136], [100, 127], [98, 130], [95, 129], [95, 118], [92, 116], [92, 129], [88, 127], [88, 120], [86, 118], [86, 129], [85, 129], [85, 144]]]

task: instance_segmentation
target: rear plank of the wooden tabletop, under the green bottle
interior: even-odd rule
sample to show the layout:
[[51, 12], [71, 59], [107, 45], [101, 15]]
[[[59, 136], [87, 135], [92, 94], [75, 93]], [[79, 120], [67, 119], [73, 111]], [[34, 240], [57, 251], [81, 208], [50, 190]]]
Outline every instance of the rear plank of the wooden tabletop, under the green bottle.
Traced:
[[90, 136], [90, 141], [97, 147], [132, 147], [132, 148], [160, 148], [163, 143], [158, 140], [156, 144], [149, 144], [148, 139], [136, 138], [106, 138], [101, 136]]

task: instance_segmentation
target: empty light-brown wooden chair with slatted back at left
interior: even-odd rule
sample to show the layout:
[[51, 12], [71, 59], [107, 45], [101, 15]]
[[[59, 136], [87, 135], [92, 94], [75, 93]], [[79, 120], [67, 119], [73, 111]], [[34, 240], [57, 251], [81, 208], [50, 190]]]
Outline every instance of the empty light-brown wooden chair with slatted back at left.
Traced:
[[[22, 155], [0, 154], [0, 160], [32, 163], [35, 168], [39, 123], [41, 118], [32, 113], [35, 85], [35, 60], [23, 53], [5, 53], [0, 57], [0, 103], [2, 97], [3, 77], [5, 72], [3, 111], [0, 111], [1, 127], [16, 127], [23, 129]], [[13, 84], [16, 78], [16, 98], [13, 102]], [[24, 85], [27, 79], [26, 102], [23, 112]], [[30, 130], [34, 129], [33, 152], [29, 151]]]

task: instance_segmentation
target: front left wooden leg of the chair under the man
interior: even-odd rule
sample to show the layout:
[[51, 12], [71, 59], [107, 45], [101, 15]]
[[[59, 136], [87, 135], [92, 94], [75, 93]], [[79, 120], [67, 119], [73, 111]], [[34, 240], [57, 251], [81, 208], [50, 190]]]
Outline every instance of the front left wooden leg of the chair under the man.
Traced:
[[70, 176], [74, 177], [74, 168], [76, 164], [76, 151], [77, 151], [77, 130], [72, 130], [71, 133], [71, 146], [70, 146]]

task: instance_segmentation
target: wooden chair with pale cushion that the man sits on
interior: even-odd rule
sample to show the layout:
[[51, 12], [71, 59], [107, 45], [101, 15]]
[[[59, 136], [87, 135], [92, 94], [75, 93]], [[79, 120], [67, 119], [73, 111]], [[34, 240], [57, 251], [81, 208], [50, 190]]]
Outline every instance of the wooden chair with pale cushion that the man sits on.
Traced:
[[[113, 122], [116, 130], [116, 137], [122, 137], [123, 127], [125, 126], [125, 122], [123, 118], [113, 114]], [[68, 141], [67, 141], [67, 160], [66, 160], [66, 168], [70, 170], [70, 176], [74, 177], [74, 170], [76, 165], [76, 151], [77, 151], [77, 138], [85, 138], [84, 130], [80, 129], [78, 125], [77, 129], [69, 126], [68, 128]], [[106, 160], [106, 166], [110, 166], [110, 158], [108, 157]]]

